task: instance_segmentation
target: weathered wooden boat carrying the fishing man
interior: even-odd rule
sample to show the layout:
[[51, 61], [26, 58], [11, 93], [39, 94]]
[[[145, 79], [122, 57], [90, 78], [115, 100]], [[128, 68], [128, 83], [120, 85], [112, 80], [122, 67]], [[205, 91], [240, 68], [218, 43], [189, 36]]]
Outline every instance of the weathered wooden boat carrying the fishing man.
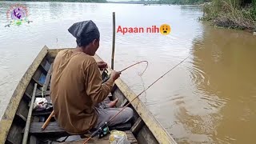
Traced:
[[[25, 138], [27, 139], [25, 143], [54, 143], [60, 142], [61, 139], [66, 140], [66, 142], [62, 141], [62, 143], [83, 143], [85, 141], [86, 135], [80, 136], [80, 139], [75, 139], [74, 136], [67, 134], [58, 126], [54, 117], [51, 118], [46, 129], [42, 130], [41, 127], [46, 121], [46, 118], [49, 117], [51, 110], [30, 112], [32, 111], [29, 106], [31, 98], [34, 100], [33, 95], [35, 95], [35, 97], [42, 97], [42, 87], [45, 88], [46, 98], [50, 101], [49, 82], [52, 70], [51, 63], [54, 62], [54, 58], [60, 50], [63, 49], [48, 49], [44, 46], [26, 71], [26, 74], [23, 75], [2, 116], [0, 122], [0, 143], [22, 143], [23, 136], [26, 135], [26, 123], [29, 124], [27, 125], [29, 126], [29, 128], [27, 128], [29, 133], [27, 134], [27, 138]], [[94, 58], [96, 61], [101, 60], [97, 55], [95, 55]], [[111, 71], [112, 70], [109, 69], [108, 73], [110, 74]], [[104, 75], [107, 76], [106, 73], [102, 74], [102, 76]], [[116, 80], [111, 94], [112, 98], [119, 98], [117, 106], [124, 106], [127, 102], [136, 97], [136, 94], [130, 90], [125, 82], [122, 82], [121, 78]], [[146, 109], [146, 106], [139, 98], [135, 99], [130, 107], [134, 110], [133, 121], [112, 127], [110, 128], [111, 130], [126, 131], [127, 137], [131, 143], [176, 143], [174, 138], [166, 132], [160, 122]], [[87, 136], [89, 135], [87, 134]], [[89, 143], [109, 143], [108, 138], [109, 136], [107, 135], [104, 138], [94, 137]]]

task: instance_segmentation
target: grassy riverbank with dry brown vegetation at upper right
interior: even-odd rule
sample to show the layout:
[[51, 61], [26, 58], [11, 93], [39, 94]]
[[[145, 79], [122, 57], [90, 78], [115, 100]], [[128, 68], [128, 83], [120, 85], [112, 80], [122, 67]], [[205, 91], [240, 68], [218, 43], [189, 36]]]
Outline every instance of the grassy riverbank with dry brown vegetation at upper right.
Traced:
[[256, 5], [241, 6], [235, 2], [213, 1], [201, 5], [203, 16], [200, 20], [210, 21], [214, 26], [230, 29], [256, 31]]

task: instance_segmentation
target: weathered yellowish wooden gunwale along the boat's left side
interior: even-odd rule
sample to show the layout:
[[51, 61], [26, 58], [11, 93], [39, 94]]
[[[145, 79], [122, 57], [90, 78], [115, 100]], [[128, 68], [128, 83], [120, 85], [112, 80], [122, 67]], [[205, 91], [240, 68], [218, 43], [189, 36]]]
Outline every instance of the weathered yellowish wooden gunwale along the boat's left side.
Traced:
[[26, 73], [23, 75], [22, 79], [18, 83], [18, 86], [14, 90], [14, 94], [10, 98], [10, 102], [0, 122], [0, 143], [6, 142], [6, 137], [14, 120], [14, 115], [18, 109], [19, 102], [21, 101], [26, 87], [29, 85], [31, 78], [34, 75], [35, 70], [38, 69], [42, 59], [46, 56], [47, 49], [48, 48], [46, 46], [42, 48], [37, 58], [34, 59], [34, 62], [30, 65], [28, 70], [26, 70]]

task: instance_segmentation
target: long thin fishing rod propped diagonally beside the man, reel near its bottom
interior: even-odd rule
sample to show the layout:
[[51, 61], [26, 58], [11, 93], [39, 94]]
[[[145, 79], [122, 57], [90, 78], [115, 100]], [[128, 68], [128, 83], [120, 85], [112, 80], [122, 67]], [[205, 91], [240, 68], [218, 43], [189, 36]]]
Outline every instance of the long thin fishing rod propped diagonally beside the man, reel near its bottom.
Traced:
[[[189, 58], [189, 57], [190, 57], [190, 55], [189, 55], [188, 57], [186, 57], [185, 59], [183, 59], [181, 62], [179, 62], [176, 66], [174, 66], [173, 68], [171, 68], [170, 70], [168, 70], [165, 74], [163, 74], [161, 77], [159, 77], [159, 78], [158, 78], [157, 80], [155, 80], [153, 83], [151, 83], [150, 86], [148, 86], [148, 87], [146, 88], [146, 90], [148, 90], [151, 86], [154, 85], [155, 82], [158, 82], [159, 79], [161, 79], [162, 77], [164, 77], [164, 76], [165, 76], [166, 74], [168, 74], [171, 70], [174, 70], [175, 67], [177, 67], [178, 65], [180, 65], [182, 62], [186, 61], [186, 59]], [[135, 64], [134, 64], [134, 65], [135, 65]], [[131, 67], [131, 66], [128, 66], [127, 69], [128, 69], [129, 67]], [[124, 70], [126, 70], [126, 69], [124, 69]], [[126, 106], [122, 107], [122, 109], [118, 111], [118, 114], [120, 114], [120, 113], [122, 112], [122, 110], [124, 110], [127, 106], [129, 106], [131, 102], [134, 102], [134, 100], [135, 100], [136, 98], [138, 98], [141, 94], [143, 94], [146, 90], [143, 90], [143, 91], [142, 91], [140, 94], [138, 94], [134, 99], [132, 99], [129, 103], [127, 103]], [[110, 118], [109, 122], [111, 122], [114, 118], [116, 118], [118, 114], [115, 114], [114, 117]], [[98, 128], [98, 130], [95, 130], [94, 133], [91, 134], [90, 137], [87, 138], [86, 141], [85, 141], [83, 144], [86, 144], [86, 142], [88, 142], [88, 141], [90, 140], [90, 138], [94, 138], [94, 136], [95, 136], [96, 134], [98, 134], [98, 132], [99, 132], [100, 130], [103, 130], [103, 128], [106, 127], [109, 122], [105, 122], [103, 126], [100, 126], [100, 127]]]

